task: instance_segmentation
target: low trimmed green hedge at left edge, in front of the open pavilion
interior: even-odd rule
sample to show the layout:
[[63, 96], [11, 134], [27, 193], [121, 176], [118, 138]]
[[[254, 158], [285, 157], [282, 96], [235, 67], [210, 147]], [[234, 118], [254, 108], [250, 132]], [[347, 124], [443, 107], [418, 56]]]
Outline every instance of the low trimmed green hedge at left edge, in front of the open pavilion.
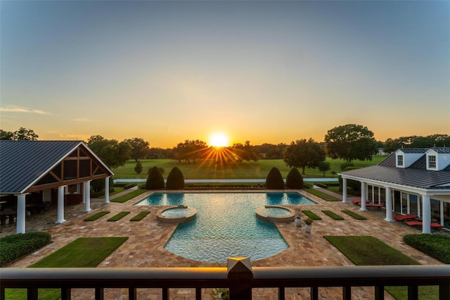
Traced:
[[27, 232], [2, 237], [0, 239], [0, 266], [9, 265], [49, 242], [51, 242], [51, 235], [47, 232]]

